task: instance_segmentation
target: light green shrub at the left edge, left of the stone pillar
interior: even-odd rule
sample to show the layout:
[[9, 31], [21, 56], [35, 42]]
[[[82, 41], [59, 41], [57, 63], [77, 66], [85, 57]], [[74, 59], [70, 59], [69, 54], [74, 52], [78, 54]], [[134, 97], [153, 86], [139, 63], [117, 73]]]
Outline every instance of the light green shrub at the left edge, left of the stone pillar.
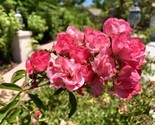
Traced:
[[20, 28], [14, 11], [6, 13], [0, 6], [0, 61], [11, 59], [11, 42], [16, 31]]

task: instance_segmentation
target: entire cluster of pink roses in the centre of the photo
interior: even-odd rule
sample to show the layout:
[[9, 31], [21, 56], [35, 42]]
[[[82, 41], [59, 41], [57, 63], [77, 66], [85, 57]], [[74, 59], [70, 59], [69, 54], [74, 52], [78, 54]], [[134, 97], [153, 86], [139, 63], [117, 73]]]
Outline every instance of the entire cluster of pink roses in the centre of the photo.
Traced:
[[141, 91], [141, 68], [145, 62], [145, 45], [132, 38], [132, 28], [123, 19], [109, 18], [103, 32], [92, 28], [84, 32], [69, 26], [57, 36], [50, 62], [50, 52], [39, 50], [26, 62], [29, 75], [46, 72], [50, 86], [83, 95], [82, 90], [98, 97], [112, 81], [111, 93], [130, 99]]

